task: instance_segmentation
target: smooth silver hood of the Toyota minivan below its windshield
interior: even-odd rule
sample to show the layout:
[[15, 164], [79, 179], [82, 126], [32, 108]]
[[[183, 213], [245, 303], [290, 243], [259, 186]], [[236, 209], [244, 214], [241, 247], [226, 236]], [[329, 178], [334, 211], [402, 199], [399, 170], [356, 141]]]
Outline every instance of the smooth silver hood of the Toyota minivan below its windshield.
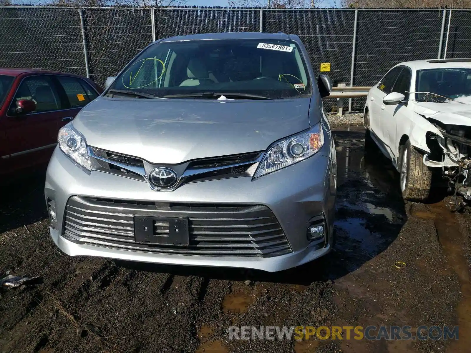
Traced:
[[[73, 120], [90, 146], [177, 164], [265, 150], [309, 128], [310, 98], [284, 100], [98, 97]], [[311, 117], [312, 121], [320, 117]]]

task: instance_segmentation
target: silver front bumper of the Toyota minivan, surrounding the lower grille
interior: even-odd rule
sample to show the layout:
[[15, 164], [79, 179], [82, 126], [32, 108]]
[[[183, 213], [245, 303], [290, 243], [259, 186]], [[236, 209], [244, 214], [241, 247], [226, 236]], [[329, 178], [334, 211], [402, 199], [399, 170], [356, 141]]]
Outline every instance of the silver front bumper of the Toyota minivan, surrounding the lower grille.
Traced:
[[[302, 265], [330, 251], [335, 202], [334, 170], [332, 159], [317, 154], [255, 180], [251, 177], [219, 179], [182, 185], [172, 192], [156, 192], [138, 180], [99, 171], [87, 174], [56, 149], [49, 163], [45, 186], [46, 199], [49, 204], [53, 201], [57, 217], [50, 234], [56, 245], [72, 256], [280, 271]], [[271, 257], [172, 254], [107, 246], [106, 241], [95, 244], [77, 241], [65, 233], [67, 203], [74, 196], [159, 203], [263, 205], [276, 217], [290, 251]], [[327, 239], [320, 246], [313, 246], [306, 233], [312, 218], [319, 215], [324, 217]]]

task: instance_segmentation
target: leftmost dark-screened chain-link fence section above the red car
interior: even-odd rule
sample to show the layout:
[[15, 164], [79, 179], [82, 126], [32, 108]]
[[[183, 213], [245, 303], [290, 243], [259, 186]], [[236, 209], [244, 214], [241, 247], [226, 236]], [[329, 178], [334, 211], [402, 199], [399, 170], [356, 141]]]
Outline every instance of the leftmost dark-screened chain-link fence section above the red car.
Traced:
[[79, 11], [0, 8], [0, 67], [85, 75]]

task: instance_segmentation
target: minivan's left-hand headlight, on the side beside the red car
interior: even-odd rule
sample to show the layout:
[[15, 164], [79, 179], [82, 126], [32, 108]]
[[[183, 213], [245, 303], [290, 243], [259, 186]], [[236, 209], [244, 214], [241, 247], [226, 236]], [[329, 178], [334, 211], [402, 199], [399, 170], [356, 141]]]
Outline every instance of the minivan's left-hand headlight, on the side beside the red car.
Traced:
[[72, 122], [59, 130], [57, 142], [62, 152], [83, 168], [91, 170], [90, 159], [87, 152], [87, 142], [85, 141], [85, 137], [73, 128]]

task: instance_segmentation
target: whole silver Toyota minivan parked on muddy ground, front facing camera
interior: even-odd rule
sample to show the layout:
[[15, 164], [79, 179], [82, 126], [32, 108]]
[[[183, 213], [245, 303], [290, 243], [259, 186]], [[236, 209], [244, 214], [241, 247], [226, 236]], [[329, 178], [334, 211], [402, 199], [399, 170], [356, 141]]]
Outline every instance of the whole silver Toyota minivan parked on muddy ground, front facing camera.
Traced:
[[331, 250], [332, 82], [296, 35], [157, 40], [106, 86], [49, 162], [66, 254], [274, 272]]

